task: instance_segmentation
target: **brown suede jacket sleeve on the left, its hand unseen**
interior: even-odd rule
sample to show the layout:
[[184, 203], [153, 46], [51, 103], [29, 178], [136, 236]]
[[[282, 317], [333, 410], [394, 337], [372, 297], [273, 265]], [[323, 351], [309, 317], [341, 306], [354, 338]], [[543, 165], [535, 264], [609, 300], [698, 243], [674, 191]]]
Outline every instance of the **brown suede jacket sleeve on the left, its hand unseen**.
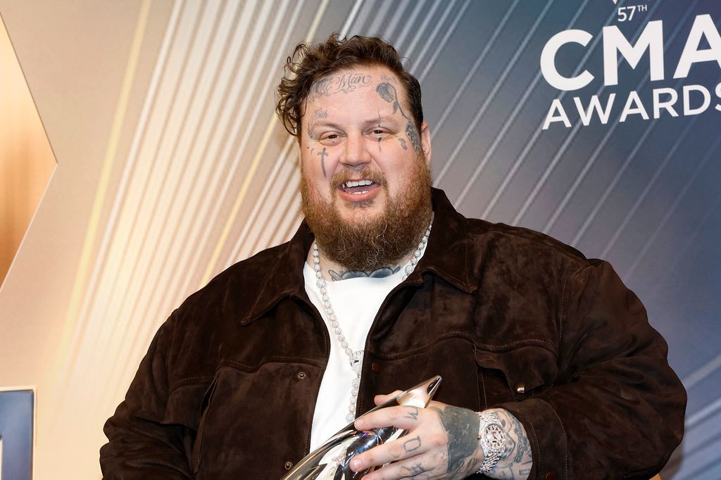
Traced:
[[168, 355], [174, 317], [156, 333], [128, 393], [105, 424], [110, 440], [100, 450], [106, 480], [192, 478], [187, 428], [166, 422]]

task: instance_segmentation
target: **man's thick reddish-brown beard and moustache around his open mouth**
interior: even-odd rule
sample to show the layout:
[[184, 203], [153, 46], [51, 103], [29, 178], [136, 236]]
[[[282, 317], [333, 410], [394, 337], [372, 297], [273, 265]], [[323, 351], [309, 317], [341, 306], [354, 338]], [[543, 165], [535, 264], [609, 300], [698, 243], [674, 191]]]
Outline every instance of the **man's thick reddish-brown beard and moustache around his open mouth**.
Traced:
[[[358, 172], [354, 176], [358, 177]], [[389, 197], [385, 179], [379, 174], [366, 169], [360, 176], [373, 179], [380, 184], [378, 188], [386, 188], [386, 205], [376, 218], [354, 215], [348, 223], [335, 208], [335, 202], [340, 201], [335, 196], [336, 187], [345, 182], [344, 175], [340, 173], [331, 179], [333, 197], [326, 203], [301, 168], [301, 200], [306, 222], [321, 252], [348, 270], [373, 272], [397, 266], [418, 245], [433, 213], [428, 164], [421, 154], [397, 198]], [[362, 211], [363, 205], [358, 208]]]

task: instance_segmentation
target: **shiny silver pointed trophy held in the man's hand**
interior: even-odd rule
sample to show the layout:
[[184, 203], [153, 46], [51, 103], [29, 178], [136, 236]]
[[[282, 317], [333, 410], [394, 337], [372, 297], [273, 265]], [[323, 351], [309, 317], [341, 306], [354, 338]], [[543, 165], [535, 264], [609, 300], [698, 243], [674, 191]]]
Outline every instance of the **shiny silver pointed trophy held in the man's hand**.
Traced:
[[[408, 405], [425, 408], [428, 405], [441, 377], [436, 375], [429, 380], [409, 388], [402, 394], [394, 396], [386, 403], [376, 406], [361, 415], [367, 414], [386, 406]], [[368, 432], [355, 430], [353, 423], [350, 423], [330, 437], [323, 445], [299, 461], [293, 470], [289, 471], [282, 480], [350, 480], [361, 479], [364, 475], [380, 467], [371, 467], [363, 471], [354, 472], [350, 469], [350, 459], [358, 453], [370, 450], [376, 445], [396, 440], [407, 434], [408, 430], [396, 427], [376, 428]]]

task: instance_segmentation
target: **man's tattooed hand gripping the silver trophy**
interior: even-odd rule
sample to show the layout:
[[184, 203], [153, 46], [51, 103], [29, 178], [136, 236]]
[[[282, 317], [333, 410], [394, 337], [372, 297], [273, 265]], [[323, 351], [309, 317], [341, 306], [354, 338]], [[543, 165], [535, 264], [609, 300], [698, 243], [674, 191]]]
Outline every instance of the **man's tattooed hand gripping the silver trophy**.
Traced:
[[[386, 398], [376, 397], [376, 404]], [[354, 471], [390, 463], [363, 479], [464, 479], [474, 474], [483, 461], [477, 440], [478, 417], [471, 410], [432, 401], [425, 409], [391, 406], [355, 422], [359, 430], [389, 425], [410, 432], [356, 455], [350, 462]]]

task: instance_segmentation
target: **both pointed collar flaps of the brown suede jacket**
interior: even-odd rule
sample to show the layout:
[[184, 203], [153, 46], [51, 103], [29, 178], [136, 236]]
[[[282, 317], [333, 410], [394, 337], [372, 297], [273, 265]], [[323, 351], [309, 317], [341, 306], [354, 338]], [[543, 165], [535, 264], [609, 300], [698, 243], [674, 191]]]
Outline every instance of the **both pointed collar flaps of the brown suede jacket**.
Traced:
[[[420, 285], [423, 283], [423, 274], [431, 273], [459, 290], [473, 293], [478, 288], [477, 276], [473, 275], [477, 258], [472, 248], [468, 220], [456, 212], [443, 190], [435, 188], [433, 212], [435, 218], [428, 246], [407, 283]], [[306, 221], [302, 221], [293, 238], [275, 247], [275, 255], [267, 256], [267, 273], [257, 278], [253, 285], [257, 291], [250, 298], [255, 298], [255, 301], [248, 302], [250, 305], [236, 304], [239, 311], [234, 312], [237, 315], [235, 318], [241, 324], [257, 319], [285, 297], [310, 303], [304, 285], [303, 267], [313, 239], [314, 235]], [[258, 260], [263, 261], [260, 258]], [[239, 275], [242, 275], [243, 269], [239, 270]], [[244, 298], [249, 298], [249, 295], [244, 295]]]

